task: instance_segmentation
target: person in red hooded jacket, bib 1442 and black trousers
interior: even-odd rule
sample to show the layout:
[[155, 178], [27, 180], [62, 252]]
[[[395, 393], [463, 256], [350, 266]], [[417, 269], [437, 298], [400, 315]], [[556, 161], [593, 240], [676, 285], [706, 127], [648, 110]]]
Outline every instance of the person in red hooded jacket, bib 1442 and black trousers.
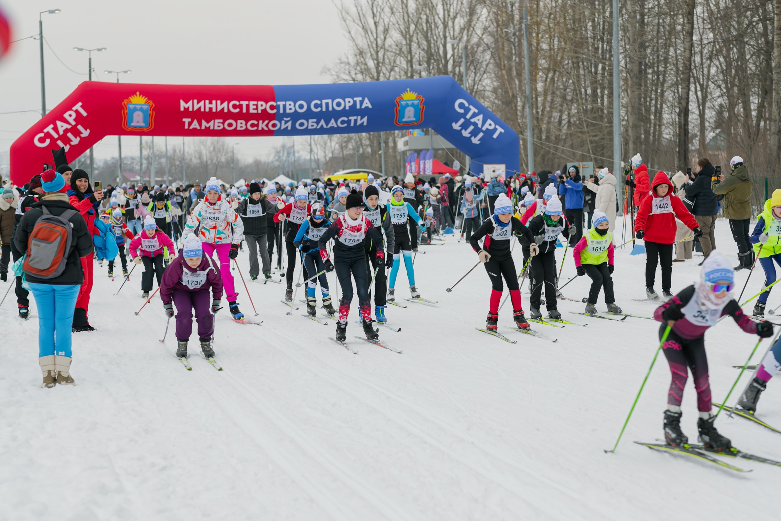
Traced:
[[676, 241], [676, 217], [694, 231], [695, 237], [702, 235], [702, 230], [683, 205], [683, 202], [672, 191], [672, 183], [667, 174], [659, 170], [651, 184], [651, 197], [643, 199], [635, 219], [635, 237], [645, 241], [645, 294], [656, 300], [659, 295], [654, 291], [656, 265], [662, 264], [662, 297], [672, 297], [672, 243]]

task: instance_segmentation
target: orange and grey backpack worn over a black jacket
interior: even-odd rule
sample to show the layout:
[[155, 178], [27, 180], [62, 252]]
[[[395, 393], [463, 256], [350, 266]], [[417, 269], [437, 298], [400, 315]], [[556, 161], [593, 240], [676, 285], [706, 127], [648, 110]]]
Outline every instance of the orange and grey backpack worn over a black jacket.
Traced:
[[73, 241], [73, 224], [69, 219], [78, 212], [66, 210], [61, 216], [55, 216], [45, 206], [42, 209], [44, 213], [35, 221], [27, 240], [27, 258], [22, 269], [39, 279], [53, 279], [65, 271], [66, 255]]

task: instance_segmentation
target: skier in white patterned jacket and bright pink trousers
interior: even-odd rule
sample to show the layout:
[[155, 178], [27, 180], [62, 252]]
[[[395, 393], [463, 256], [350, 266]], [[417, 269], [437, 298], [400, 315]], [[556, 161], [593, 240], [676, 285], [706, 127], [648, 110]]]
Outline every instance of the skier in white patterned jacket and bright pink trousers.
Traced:
[[230, 273], [230, 260], [236, 259], [239, 254], [239, 243], [244, 237], [244, 223], [219, 193], [216, 177], [209, 179], [205, 191], [206, 198], [198, 202], [187, 217], [185, 233], [187, 230], [193, 232], [198, 225], [201, 226], [198, 238], [204, 243], [205, 255], [212, 257], [214, 252], [217, 252], [219, 273], [223, 277], [230, 315], [235, 320], [243, 320], [244, 313], [239, 311], [237, 302], [239, 294], [234, 287], [234, 276]]

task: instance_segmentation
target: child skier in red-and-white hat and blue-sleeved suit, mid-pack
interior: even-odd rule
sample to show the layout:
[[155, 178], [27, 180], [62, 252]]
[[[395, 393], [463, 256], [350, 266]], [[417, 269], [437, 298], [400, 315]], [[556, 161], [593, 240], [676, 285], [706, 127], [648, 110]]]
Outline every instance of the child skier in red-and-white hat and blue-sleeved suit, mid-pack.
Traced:
[[[304, 255], [304, 266], [306, 266], [306, 273], [311, 273], [310, 277], [314, 277], [317, 273], [326, 269], [323, 259], [320, 259], [319, 240], [330, 225], [330, 221], [326, 219], [325, 207], [321, 203], [316, 202], [312, 205], [312, 215], [298, 228], [293, 245], [301, 252], [301, 255]], [[306, 285], [306, 312], [310, 316], [316, 316], [317, 314], [317, 297], [315, 293], [318, 280], [320, 281], [320, 292], [323, 294], [323, 309], [329, 315], [336, 315], [337, 310], [333, 309], [331, 304], [328, 278], [325, 273], [320, 273], [316, 279], [309, 280]]]

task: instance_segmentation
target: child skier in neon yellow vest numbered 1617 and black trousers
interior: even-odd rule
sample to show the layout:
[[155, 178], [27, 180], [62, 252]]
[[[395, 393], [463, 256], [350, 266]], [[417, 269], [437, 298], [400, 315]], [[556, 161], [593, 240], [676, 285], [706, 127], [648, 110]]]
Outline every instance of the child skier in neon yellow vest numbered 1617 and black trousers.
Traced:
[[608, 230], [610, 221], [604, 212], [596, 210], [591, 219], [591, 229], [572, 250], [578, 277], [588, 274], [591, 277], [591, 289], [588, 292], [586, 312], [597, 315], [597, 297], [600, 287], [604, 287], [604, 303], [608, 312], [621, 314], [621, 308], [615, 305], [613, 294], [613, 234]]

